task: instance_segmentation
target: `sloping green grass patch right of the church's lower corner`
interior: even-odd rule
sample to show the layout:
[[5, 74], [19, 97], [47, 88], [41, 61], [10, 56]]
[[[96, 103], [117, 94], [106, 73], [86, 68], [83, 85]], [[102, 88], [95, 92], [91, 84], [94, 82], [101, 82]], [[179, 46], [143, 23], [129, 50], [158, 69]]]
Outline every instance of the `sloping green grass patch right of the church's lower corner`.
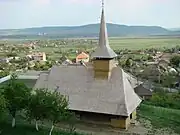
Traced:
[[148, 119], [154, 129], [170, 128], [180, 134], [180, 110], [141, 104], [139, 115]]

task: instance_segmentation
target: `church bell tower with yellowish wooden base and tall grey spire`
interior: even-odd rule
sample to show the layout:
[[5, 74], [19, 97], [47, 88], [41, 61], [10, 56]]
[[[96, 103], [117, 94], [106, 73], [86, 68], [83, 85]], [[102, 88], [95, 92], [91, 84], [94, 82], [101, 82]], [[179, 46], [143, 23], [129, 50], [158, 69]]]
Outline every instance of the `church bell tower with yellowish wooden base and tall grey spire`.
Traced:
[[104, 16], [104, 1], [102, 1], [102, 13], [99, 32], [99, 45], [91, 55], [94, 66], [95, 79], [109, 79], [111, 71], [115, 67], [114, 58], [117, 54], [110, 48], [108, 33]]

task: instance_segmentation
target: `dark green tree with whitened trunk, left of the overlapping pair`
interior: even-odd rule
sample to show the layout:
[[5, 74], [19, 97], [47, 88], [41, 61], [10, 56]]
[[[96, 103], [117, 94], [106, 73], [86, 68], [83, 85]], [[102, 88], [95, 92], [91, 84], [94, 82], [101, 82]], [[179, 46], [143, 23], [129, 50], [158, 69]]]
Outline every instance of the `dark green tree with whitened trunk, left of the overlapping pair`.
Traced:
[[25, 109], [30, 97], [30, 89], [25, 84], [18, 82], [17, 76], [13, 74], [9, 82], [3, 87], [4, 97], [7, 100], [7, 109], [12, 119], [12, 127], [15, 127], [17, 111]]

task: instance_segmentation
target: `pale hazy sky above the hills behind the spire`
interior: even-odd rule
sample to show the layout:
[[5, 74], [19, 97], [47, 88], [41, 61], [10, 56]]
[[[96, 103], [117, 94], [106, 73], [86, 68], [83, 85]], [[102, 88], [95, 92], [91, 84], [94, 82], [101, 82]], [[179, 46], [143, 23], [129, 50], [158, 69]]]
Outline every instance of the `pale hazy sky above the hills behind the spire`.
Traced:
[[[100, 0], [0, 0], [0, 29], [100, 21]], [[105, 0], [106, 21], [180, 27], [180, 0]]]

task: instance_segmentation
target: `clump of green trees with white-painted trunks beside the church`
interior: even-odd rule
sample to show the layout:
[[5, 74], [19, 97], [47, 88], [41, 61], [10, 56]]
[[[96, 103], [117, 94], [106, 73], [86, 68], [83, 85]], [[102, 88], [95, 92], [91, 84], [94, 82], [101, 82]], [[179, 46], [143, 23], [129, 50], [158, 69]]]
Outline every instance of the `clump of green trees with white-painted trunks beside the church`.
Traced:
[[[68, 110], [68, 98], [57, 91], [37, 89], [31, 91], [25, 84], [17, 80], [13, 74], [11, 79], [3, 87], [0, 93], [0, 112], [7, 109], [13, 117], [12, 127], [15, 126], [15, 118], [18, 111], [21, 114], [26, 112], [25, 117], [36, 121], [38, 131], [38, 121], [48, 120], [52, 123], [50, 135], [54, 126], [58, 122], [70, 122], [70, 131], [74, 131], [75, 115]], [[1, 115], [0, 115], [1, 116]]]

